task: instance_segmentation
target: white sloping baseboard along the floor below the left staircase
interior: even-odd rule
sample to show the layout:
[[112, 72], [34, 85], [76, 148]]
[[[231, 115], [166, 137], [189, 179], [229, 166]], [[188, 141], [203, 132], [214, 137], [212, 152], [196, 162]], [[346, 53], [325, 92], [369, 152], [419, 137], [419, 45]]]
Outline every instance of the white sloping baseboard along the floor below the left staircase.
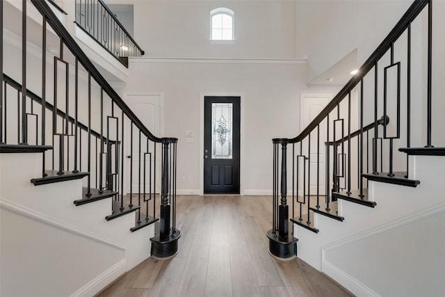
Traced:
[[127, 259], [122, 259], [120, 262], [108, 268], [104, 273], [97, 275], [88, 284], [75, 291], [71, 297], [89, 297], [95, 296], [106, 285], [111, 284], [113, 280], [119, 278], [120, 275], [127, 271]]

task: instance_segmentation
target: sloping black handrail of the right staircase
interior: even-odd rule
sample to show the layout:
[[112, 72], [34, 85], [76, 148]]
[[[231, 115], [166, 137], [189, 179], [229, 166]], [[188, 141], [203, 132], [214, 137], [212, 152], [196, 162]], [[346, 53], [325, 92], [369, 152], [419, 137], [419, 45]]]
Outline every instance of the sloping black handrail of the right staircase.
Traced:
[[337, 95], [327, 104], [327, 106], [312, 120], [312, 122], [307, 125], [307, 127], [301, 131], [301, 133], [295, 138], [290, 138], [289, 143], [298, 143], [305, 139], [309, 133], [314, 130], [317, 125], [319, 125], [325, 119], [326, 115], [333, 111], [337, 104], [339, 104], [344, 97], [348, 95], [350, 90], [355, 88], [362, 78], [367, 74], [371, 69], [373, 69], [375, 63], [382, 58], [383, 55], [387, 52], [387, 50], [391, 47], [394, 40], [402, 35], [402, 33], [407, 29], [407, 27], [411, 24], [412, 21], [416, 18], [419, 13], [425, 8], [431, 0], [416, 0], [410, 8], [407, 10], [405, 15], [398, 21], [394, 29], [387, 35], [387, 37], [380, 43], [380, 45], [373, 51], [373, 54], [364, 62], [362, 67], [359, 68], [357, 74], [352, 77], [348, 83], [339, 91]]

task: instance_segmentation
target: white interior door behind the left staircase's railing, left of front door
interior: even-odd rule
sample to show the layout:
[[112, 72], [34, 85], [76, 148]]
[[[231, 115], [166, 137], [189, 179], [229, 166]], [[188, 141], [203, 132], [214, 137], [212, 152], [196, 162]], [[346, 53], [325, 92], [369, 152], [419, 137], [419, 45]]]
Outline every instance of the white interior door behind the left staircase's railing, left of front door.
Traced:
[[[162, 95], [161, 94], [126, 94], [125, 103], [131, 111], [143, 122], [154, 136], [162, 135]], [[150, 186], [154, 187], [154, 143], [149, 141], [148, 150], [145, 136], [141, 134], [139, 141], [139, 130], [133, 125], [133, 141], [131, 141], [131, 125], [127, 123], [127, 193], [148, 193]], [[131, 143], [133, 145], [131, 145]], [[131, 152], [131, 154], [130, 154]], [[161, 188], [161, 146], [156, 145], [156, 193]], [[145, 156], [145, 162], [144, 160]], [[151, 162], [150, 162], [151, 158]], [[139, 162], [141, 160], [142, 162]], [[145, 179], [143, 166], [145, 164]], [[131, 166], [132, 165], [132, 166]], [[152, 166], [152, 180], [149, 179], [149, 166]], [[132, 172], [132, 175], [130, 175]], [[130, 186], [131, 185], [131, 188]]]

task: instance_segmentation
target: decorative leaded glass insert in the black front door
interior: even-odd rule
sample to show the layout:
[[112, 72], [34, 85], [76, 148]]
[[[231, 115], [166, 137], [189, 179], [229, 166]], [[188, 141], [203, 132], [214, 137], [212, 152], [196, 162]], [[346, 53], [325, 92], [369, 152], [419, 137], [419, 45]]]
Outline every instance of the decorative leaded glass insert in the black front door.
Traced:
[[211, 104], [211, 159], [232, 159], [233, 103]]

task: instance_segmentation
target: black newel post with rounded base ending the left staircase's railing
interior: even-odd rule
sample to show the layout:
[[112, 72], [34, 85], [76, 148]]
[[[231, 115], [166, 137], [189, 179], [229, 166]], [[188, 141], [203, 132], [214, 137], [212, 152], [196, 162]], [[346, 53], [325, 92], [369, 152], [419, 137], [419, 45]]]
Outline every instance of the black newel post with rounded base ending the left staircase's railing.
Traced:
[[156, 223], [151, 254], [165, 259], [175, 256], [181, 232], [176, 229], [176, 146], [177, 138], [162, 138], [161, 218]]

